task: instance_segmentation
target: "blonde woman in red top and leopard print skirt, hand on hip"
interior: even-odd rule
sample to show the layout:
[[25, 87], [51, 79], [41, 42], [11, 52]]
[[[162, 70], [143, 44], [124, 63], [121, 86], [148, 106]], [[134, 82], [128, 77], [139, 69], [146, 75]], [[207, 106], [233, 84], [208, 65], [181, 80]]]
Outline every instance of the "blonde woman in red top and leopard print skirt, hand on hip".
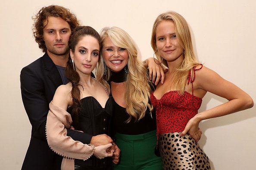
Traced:
[[[169, 69], [164, 83], [150, 97], [156, 108], [162, 165], [164, 169], [209, 170], [209, 159], [197, 143], [200, 121], [251, 108], [253, 100], [197, 62], [188, 24], [178, 13], [166, 12], [156, 18], [151, 46], [158, 61]], [[198, 113], [207, 91], [228, 101]]]

